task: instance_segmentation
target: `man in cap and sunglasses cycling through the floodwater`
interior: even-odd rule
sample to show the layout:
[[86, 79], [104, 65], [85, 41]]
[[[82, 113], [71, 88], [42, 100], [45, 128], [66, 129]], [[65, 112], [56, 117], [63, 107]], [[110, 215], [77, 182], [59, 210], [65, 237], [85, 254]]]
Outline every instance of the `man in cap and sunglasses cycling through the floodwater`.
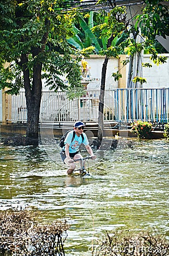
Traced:
[[[65, 146], [62, 148], [60, 152], [61, 158], [69, 169], [67, 170], [67, 174], [71, 174], [75, 170], [75, 163], [73, 160], [83, 158], [81, 154], [79, 154], [79, 147], [83, 143], [86, 147], [88, 154], [91, 155], [92, 159], [95, 159], [96, 156], [93, 154], [91, 147], [88, 144], [88, 139], [84, 130], [84, 123], [76, 122], [74, 124], [74, 130], [69, 131], [65, 138]], [[85, 169], [85, 167], [83, 166]]]

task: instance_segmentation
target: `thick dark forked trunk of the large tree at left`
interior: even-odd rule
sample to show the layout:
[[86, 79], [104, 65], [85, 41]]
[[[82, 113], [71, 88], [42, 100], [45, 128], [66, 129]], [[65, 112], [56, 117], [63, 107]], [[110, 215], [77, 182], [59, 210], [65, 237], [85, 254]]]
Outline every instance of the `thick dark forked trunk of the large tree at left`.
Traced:
[[[41, 48], [32, 48], [33, 59], [39, 55], [39, 53], [45, 50], [45, 45], [47, 43], [47, 38], [49, 34], [49, 24], [50, 20], [45, 19], [45, 32], [41, 40]], [[42, 93], [42, 81], [41, 81], [41, 71], [43, 64], [41, 61], [35, 61], [33, 66], [33, 81], [31, 84], [30, 73], [28, 68], [28, 57], [25, 53], [21, 55], [20, 65], [23, 69], [24, 76], [24, 89], [26, 93], [26, 103], [27, 103], [27, 138], [35, 144], [35, 140], [38, 139], [39, 131], [39, 113], [40, 113], [40, 103], [41, 103], [41, 93]], [[36, 143], [37, 144], [37, 143]]]

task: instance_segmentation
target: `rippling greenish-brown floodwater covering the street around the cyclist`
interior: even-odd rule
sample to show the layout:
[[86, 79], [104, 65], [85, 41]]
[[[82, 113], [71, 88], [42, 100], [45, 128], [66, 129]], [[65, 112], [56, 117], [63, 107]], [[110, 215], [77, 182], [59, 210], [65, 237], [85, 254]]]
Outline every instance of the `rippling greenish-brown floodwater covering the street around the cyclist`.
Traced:
[[133, 142], [132, 148], [116, 152], [116, 161], [115, 151], [96, 151], [91, 177], [85, 179], [66, 175], [53, 145], [1, 144], [0, 209], [28, 205], [46, 220], [66, 219], [68, 256], [91, 255], [92, 243], [105, 230], [152, 230], [169, 238], [169, 142]]

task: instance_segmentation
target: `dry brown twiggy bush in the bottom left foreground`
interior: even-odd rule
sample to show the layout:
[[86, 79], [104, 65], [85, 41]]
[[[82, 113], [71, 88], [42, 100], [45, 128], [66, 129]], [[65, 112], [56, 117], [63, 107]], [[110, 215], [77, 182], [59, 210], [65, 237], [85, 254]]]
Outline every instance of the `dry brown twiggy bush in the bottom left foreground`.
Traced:
[[0, 255], [64, 256], [65, 221], [41, 224], [33, 210], [0, 212]]

